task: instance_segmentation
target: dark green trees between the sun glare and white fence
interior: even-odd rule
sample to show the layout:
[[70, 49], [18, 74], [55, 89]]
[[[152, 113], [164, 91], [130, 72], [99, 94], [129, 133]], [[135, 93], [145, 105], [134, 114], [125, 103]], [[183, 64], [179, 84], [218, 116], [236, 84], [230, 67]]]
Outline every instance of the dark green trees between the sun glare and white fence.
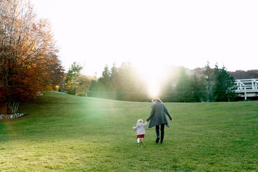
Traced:
[[[216, 102], [233, 101], [235, 98], [232, 88], [234, 78], [223, 66], [221, 69], [209, 66], [189, 70], [178, 68], [177, 78], [168, 79], [162, 87], [165, 102]], [[169, 83], [169, 84], [168, 84]], [[176, 83], [173, 86], [170, 83]]]

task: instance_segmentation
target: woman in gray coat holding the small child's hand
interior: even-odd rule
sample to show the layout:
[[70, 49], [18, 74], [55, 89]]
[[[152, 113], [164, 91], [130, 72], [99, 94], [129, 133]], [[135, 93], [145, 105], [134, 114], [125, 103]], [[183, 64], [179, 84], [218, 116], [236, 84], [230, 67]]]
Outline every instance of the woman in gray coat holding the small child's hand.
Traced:
[[[165, 104], [162, 103], [162, 101], [159, 98], [154, 98], [151, 101], [153, 103], [153, 106], [151, 108], [150, 115], [146, 120], [147, 121], [150, 120], [149, 128], [154, 126], [156, 127], [156, 134], [157, 134], [156, 143], [159, 143], [159, 140], [160, 140], [160, 143], [163, 143], [165, 124], [167, 127], [170, 127], [166, 114], [169, 116], [172, 122], [173, 122], [173, 118], [170, 115]], [[161, 138], [159, 137], [159, 129], [161, 131]]]

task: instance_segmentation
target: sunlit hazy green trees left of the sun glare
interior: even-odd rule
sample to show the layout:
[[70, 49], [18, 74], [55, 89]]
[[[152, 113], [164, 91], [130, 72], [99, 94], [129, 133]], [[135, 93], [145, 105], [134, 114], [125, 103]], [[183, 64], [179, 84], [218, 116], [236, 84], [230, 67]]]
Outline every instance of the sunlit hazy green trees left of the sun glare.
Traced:
[[88, 96], [116, 100], [147, 101], [144, 82], [138, 77], [130, 63], [122, 63], [120, 67], [113, 64], [104, 67], [102, 76], [97, 82], [92, 81]]

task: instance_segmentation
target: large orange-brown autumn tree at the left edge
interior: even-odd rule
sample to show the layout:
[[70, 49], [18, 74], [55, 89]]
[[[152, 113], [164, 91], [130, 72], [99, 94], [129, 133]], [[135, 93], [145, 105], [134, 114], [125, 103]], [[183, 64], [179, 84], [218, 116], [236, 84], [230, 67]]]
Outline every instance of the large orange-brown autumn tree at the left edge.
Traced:
[[17, 112], [63, 74], [50, 23], [22, 0], [0, 0], [0, 102], [3, 114]]

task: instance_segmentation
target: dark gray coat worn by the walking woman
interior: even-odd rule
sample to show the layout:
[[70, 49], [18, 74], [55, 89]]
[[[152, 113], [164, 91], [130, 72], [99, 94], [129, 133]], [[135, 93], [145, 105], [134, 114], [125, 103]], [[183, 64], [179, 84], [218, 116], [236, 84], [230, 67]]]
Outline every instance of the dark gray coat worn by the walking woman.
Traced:
[[151, 108], [150, 115], [147, 118], [147, 121], [150, 120], [149, 128], [164, 123], [167, 127], [170, 127], [166, 114], [169, 116], [170, 120], [172, 120], [172, 116], [170, 115], [164, 103], [157, 102], [156, 104], [154, 104]]

